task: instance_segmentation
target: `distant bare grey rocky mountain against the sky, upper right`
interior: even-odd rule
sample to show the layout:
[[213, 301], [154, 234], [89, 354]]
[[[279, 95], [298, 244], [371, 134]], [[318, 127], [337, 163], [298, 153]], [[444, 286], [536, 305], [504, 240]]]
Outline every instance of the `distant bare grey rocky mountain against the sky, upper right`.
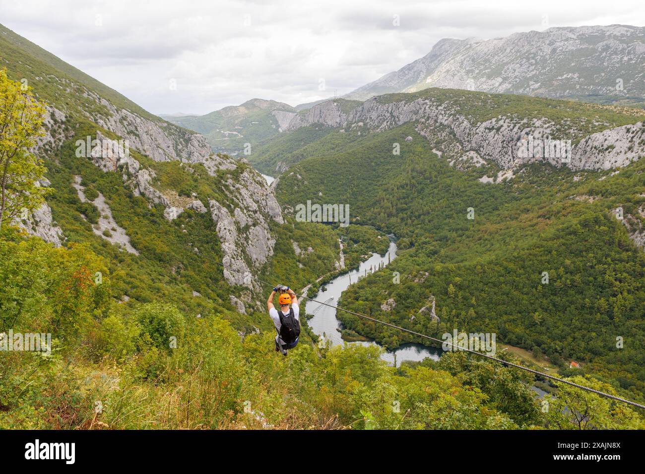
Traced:
[[364, 101], [429, 87], [541, 97], [643, 97], [644, 34], [639, 26], [610, 25], [548, 28], [487, 40], [442, 39], [424, 57], [345, 97]]

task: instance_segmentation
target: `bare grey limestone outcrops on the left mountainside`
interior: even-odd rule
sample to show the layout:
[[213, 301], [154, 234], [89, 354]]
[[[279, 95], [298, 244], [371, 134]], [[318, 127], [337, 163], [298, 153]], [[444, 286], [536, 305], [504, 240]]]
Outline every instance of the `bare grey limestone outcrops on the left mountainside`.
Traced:
[[[62, 84], [67, 79], [58, 81]], [[163, 206], [164, 217], [170, 221], [177, 219], [186, 209], [199, 213], [210, 212], [221, 239], [226, 280], [231, 284], [253, 288], [248, 275], [261, 270], [273, 255], [275, 238], [270, 232], [270, 222], [284, 223], [282, 210], [273, 193], [274, 188], [269, 188], [263, 177], [244, 161], [213, 154], [203, 135], [147, 114], [135, 104], [130, 103], [126, 108], [117, 106], [83, 84], [75, 83], [74, 86], [74, 94], [82, 95], [84, 99], [96, 104], [95, 107], [74, 109], [75, 113], [84, 114], [96, 124], [92, 137], [101, 143], [100, 146], [92, 146], [90, 142], [90, 149], [85, 150], [84, 156], [103, 172], [119, 173], [124, 185], [134, 195], [143, 196], [150, 206]], [[61, 90], [65, 90], [63, 86]], [[70, 92], [71, 89], [66, 90]], [[73, 130], [66, 129], [66, 114], [68, 112], [65, 109], [47, 107], [46, 133], [38, 139], [34, 153], [53, 152], [72, 136]], [[278, 123], [284, 124], [292, 119], [292, 115], [292, 112], [283, 111], [283, 114], [277, 114], [275, 118]], [[114, 133], [119, 140], [108, 139], [105, 130]], [[143, 166], [129, 151], [147, 155], [154, 161], [181, 162], [179, 166], [183, 166], [188, 172], [195, 172], [197, 166], [192, 166], [193, 164], [202, 164], [210, 175], [218, 177], [219, 189], [216, 191], [217, 195], [222, 196], [221, 199], [217, 198], [219, 202], [209, 201], [206, 206], [206, 202], [200, 200], [195, 193], [185, 199], [178, 195], [177, 190], [155, 188], [159, 186], [155, 184], [154, 170]], [[229, 172], [227, 178], [226, 173]], [[79, 186], [79, 196], [83, 193], [79, 182], [70, 184]], [[123, 245], [128, 252], [136, 252], [123, 229], [112, 219], [103, 196], [98, 199], [100, 202], [95, 200], [93, 204], [101, 206], [101, 212], [106, 216], [109, 214], [109, 219], [95, 232], [100, 231], [103, 239]], [[43, 206], [35, 216], [38, 220], [30, 223], [29, 232], [37, 232], [43, 238], [60, 244], [63, 235], [52, 223], [50, 208]], [[199, 252], [196, 248], [194, 251]], [[252, 301], [248, 301], [248, 304], [251, 303]]]

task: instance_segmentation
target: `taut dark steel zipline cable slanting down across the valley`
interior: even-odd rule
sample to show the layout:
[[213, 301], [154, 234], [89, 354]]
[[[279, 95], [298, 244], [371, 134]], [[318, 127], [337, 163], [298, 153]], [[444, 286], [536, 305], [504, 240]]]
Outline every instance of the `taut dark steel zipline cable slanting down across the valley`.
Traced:
[[[207, 259], [208, 259], [208, 257], [207, 257]], [[208, 259], [208, 260], [212, 261], [213, 263], [218, 264], [219, 266], [224, 268], [224, 270], [228, 270], [229, 272], [242, 273], [242, 272], [239, 272], [239, 270], [232, 270], [230, 268], [226, 268], [226, 266], [224, 266], [224, 264], [221, 264], [220, 262], [213, 261], [212, 259]], [[250, 273], [248, 273], [248, 277], [252, 278], [253, 280], [255, 280], [257, 282], [260, 282], [262, 284], [270, 286], [270, 288], [276, 288], [277, 287], [276, 285], [273, 285], [273, 284], [271, 284], [269, 282], [263, 281], [263, 280], [261, 280], [261, 279], [259, 279], [257, 277], [253, 277], [253, 275], [251, 275]], [[330, 308], [334, 308], [335, 310], [345, 311], [346, 313], [350, 313], [352, 315], [367, 319], [368, 321], [379, 322], [380, 324], [384, 324], [385, 326], [390, 326], [390, 328], [395, 328], [395, 329], [404, 331], [406, 333], [413, 334], [415, 336], [430, 339], [430, 341], [440, 342], [441, 344], [449, 344], [450, 346], [453, 346], [454, 348], [457, 348], [458, 350], [468, 351], [468, 352], [470, 352], [472, 354], [479, 355], [481, 357], [486, 357], [486, 359], [495, 360], [495, 362], [500, 362], [501, 364], [503, 364], [505, 366], [511, 366], [511, 367], [515, 367], [515, 368], [518, 368], [518, 369], [521, 369], [521, 370], [525, 370], [525, 371], [531, 372], [531, 373], [533, 373], [535, 375], [540, 375], [541, 377], [546, 377], [547, 379], [555, 380], [556, 382], [561, 382], [562, 384], [568, 384], [570, 386], [580, 388], [582, 390], [590, 391], [591, 393], [595, 393], [596, 395], [600, 395], [601, 397], [606, 397], [608, 399], [617, 400], [619, 402], [623, 402], [623, 403], [626, 403], [628, 405], [635, 406], [637, 408], [641, 408], [642, 410], [645, 410], [645, 405], [641, 405], [641, 404], [639, 404], [637, 402], [633, 402], [631, 400], [626, 400], [626, 399], [617, 397], [616, 395], [611, 395], [610, 393], [605, 393], [604, 391], [595, 390], [595, 388], [586, 387], [584, 385], [576, 384], [575, 382], [571, 382], [570, 380], [560, 379], [559, 377], [555, 377], [554, 375], [549, 375], [548, 373], [544, 373], [544, 372], [541, 372], [541, 371], [538, 371], [538, 370], [533, 370], [531, 368], [521, 366], [520, 364], [513, 364], [513, 362], [508, 362], [508, 360], [499, 359], [497, 357], [493, 357], [492, 355], [488, 355], [488, 354], [485, 354], [485, 353], [482, 353], [482, 352], [477, 352], [477, 351], [474, 351], [474, 350], [471, 350], [471, 349], [468, 349], [468, 348], [464, 348], [464, 347], [458, 346], [457, 344], [453, 344], [452, 342], [442, 341], [441, 339], [437, 339], [436, 337], [428, 336], [428, 335], [425, 335], [425, 334], [418, 333], [417, 331], [412, 331], [412, 330], [409, 330], [409, 329], [406, 329], [406, 328], [402, 328], [401, 326], [397, 326], [397, 325], [392, 324], [390, 322], [381, 321], [379, 319], [375, 319], [375, 318], [372, 318], [370, 316], [367, 316], [367, 315], [364, 315], [364, 314], [361, 314], [361, 313], [356, 313], [355, 311], [346, 310], [345, 308], [340, 308], [339, 306], [333, 306], [332, 304], [327, 304], [326, 302], [317, 301], [315, 299], [312, 299], [312, 298], [304, 296], [304, 292], [303, 292], [302, 295], [299, 296], [299, 298], [306, 299], [306, 300], [316, 302], [316, 303], [319, 303], [319, 304], [323, 304], [324, 306], [329, 306]]]

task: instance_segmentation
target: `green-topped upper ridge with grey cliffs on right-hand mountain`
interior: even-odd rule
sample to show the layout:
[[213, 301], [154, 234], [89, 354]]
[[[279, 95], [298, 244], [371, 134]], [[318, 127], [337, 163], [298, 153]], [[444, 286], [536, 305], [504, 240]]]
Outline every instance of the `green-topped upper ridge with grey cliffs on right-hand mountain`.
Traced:
[[[263, 172], [282, 172], [289, 164], [316, 153], [316, 139], [325, 133], [342, 135], [326, 141], [333, 141], [337, 151], [352, 137], [415, 123], [417, 132], [431, 141], [438, 139], [438, 144], [448, 142], [457, 147], [439, 147], [450, 152], [456, 166], [473, 161], [480, 166], [497, 165], [501, 172], [497, 180], [536, 160], [572, 170], [606, 170], [639, 159], [644, 118], [642, 110], [631, 108], [432, 88], [380, 95], [363, 103], [335, 99], [302, 110], [284, 126], [289, 133], [257, 147], [249, 161]], [[537, 148], [531, 155], [522, 155], [523, 144], [529, 139], [542, 145], [548, 140], [566, 141], [571, 144], [571, 156], [565, 160], [550, 156], [557, 153], [541, 156]]]

